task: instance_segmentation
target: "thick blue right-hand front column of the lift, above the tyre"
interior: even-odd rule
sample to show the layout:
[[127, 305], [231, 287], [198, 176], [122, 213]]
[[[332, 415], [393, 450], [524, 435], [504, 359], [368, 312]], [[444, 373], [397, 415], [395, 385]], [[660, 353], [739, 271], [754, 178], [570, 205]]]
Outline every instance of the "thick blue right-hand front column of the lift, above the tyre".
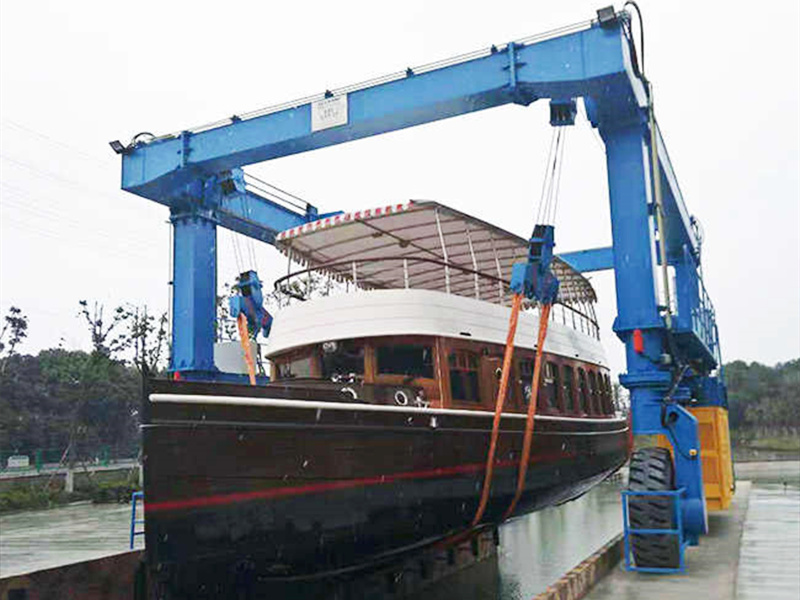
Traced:
[[[707, 532], [697, 420], [677, 404], [691, 391], [675, 379], [668, 331], [656, 288], [658, 266], [646, 121], [600, 128], [606, 144], [618, 316], [614, 332], [625, 343], [635, 434], [665, 435], [673, 448], [675, 485], [685, 488], [682, 520], [690, 543]], [[691, 292], [691, 290], [685, 290]], [[688, 294], [687, 294], [688, 295]]]

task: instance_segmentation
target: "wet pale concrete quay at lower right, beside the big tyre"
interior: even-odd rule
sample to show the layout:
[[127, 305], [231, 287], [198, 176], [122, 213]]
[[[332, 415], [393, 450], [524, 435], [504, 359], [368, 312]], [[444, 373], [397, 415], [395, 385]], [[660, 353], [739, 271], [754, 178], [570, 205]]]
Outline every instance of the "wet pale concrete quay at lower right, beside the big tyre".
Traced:
[[620, 565], [589, 600], [800, 598], [800, 462], [744, 463], [731, 508], [709, 515], [709, 534], [689, 548], [676, 575], [624, 571]]

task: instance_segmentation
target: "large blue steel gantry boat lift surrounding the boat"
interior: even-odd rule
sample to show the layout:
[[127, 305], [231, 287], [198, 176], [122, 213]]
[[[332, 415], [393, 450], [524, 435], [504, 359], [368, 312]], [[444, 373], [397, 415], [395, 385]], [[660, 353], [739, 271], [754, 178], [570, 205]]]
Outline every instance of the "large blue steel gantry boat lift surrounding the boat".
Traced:
[[[680, 530], [678, 539], [697, 544], [707, 532], [708, 509], [726, 508], [731, 499], [727, 397], [714, 309], [701, 277], [702, 238], [654, 118], [631, 21], [627, 11], [607, 7], [550, 33], [169, 135], [112, 142], [122, 158], [122, 188], [170, 209], [170, 371], [183, 379], [242, 380], [214, 364], [218, 227], [273, 244], [282, 230], [324, 226], [337, 214], [274, 201], [249, 183], [246, 165], [543, 99], [550, 101], [552, 125], [571, 125], [582, 99], [605, 143], [613, 244], [561, 258], [581, 272], [614, 271], [614, 332], [626, 348], [620, 382], [630, 391], [633, 432], [658, 435], [666, 448], [650, 449], [638, 462], [634, 455], [632, 490], [661, 491], [663, 529]], [[257, 307], [241, 307], [251, 331], [264, 326]], [[648, 483], [653, 479], [666, 483]], [[680, 500], [673, 504], [664, 492], [675, 490]], [[637, 566], [677, 567], [672, 551], [648, 554], [670, 544], [654, 529], [658, 515], [641, 514], [641, 494], [634, 496], [637, 529], [628, 533]], [[675, 505], [677, 523], [669, 517]], [[682, 549], [683, 543], [681, 565]]]

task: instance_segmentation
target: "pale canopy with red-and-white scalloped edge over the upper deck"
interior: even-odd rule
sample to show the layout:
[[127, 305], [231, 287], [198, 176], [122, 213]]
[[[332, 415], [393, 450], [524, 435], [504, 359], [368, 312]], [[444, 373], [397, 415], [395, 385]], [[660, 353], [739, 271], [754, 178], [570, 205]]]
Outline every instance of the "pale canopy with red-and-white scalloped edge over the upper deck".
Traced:
[[[432, 201], [327, 217], [281, 232], [294, 262], [364, 289], [426, 289], [505, 304], [528, 240]], [[589, 281], [559, 258], [559, 302], [591, 306]], [[591, 311], [591, 308], [590, 308]], [[591, 311], [593, 312], [593, 311]]]

